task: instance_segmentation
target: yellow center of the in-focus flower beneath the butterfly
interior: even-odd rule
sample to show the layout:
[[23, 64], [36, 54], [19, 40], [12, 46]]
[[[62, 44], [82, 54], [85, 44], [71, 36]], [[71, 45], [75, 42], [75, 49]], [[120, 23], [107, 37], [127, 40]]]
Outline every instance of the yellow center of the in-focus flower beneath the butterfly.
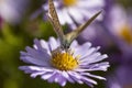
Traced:
[[72, 70], [78, 66], [77, 59], [68, 53], [54, 54], [51, 63], [59, 70]]

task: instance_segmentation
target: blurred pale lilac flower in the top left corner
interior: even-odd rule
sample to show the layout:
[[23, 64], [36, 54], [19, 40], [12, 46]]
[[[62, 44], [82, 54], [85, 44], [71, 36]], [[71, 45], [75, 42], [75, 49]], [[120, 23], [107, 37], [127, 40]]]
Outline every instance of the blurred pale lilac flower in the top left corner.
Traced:
[[28, 8], [29, 0], [0, 0], [0, 15], [11, 23], [19, 23]]

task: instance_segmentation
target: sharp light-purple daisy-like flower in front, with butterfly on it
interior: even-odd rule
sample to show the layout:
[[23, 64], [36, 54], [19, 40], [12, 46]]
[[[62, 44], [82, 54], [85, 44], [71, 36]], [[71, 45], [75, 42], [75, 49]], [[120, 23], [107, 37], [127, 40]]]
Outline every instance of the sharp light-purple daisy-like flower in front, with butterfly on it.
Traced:
[[85, 82], [91, 87], [97, 85], [91, 78], [106, 79], [90, 74], [96, 70], [106, 72], [109, 67], [108, 62], [101, 62], [108, 56], [98, 52], [100, 47], [91, 47], [89, 42], [79, 45], [74, 41], [66, 52], [59, 47], [58, 40], [54, 37], [48, 42], [34, 40], [34, 48], [26, 47], [26, 52], [21, 52], [21, 59], [33, 65], [20, 66], [20, 69], [31, 74], [31, 77], [35, 78], [40, 75], [42, 79], [61, 86], [69, 81]]

